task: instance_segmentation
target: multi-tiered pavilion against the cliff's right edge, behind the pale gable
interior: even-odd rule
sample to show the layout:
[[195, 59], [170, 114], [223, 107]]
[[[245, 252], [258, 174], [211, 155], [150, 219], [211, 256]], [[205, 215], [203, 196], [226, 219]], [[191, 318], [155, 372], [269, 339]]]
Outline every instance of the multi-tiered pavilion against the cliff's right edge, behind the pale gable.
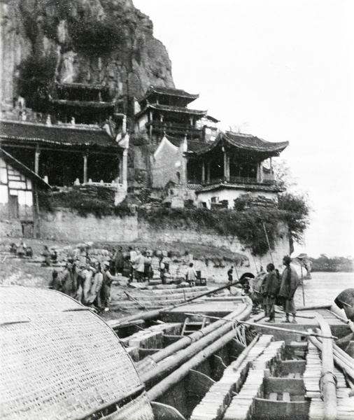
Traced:
[[198, 97], [180, 89], [151, 86], [139, 101], [141, 111], [135, 116], [135, 131], [148, 132], [155, 144], [165, 134], [179, 139], [201, 139], [203, 130], [197, 123], [206, 117], [206, 111], [187, 108]]

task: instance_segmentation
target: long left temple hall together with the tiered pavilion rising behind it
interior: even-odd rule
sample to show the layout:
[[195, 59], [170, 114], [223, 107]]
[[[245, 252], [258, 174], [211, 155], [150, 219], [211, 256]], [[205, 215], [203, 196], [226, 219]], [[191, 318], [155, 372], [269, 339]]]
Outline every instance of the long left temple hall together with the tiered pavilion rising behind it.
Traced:
[[57, 83], [38, 123], [20, 106], [0, 122], [1, 147], [51, 186], [115, 183], [127, 190], [126, 118], [104, 85]]

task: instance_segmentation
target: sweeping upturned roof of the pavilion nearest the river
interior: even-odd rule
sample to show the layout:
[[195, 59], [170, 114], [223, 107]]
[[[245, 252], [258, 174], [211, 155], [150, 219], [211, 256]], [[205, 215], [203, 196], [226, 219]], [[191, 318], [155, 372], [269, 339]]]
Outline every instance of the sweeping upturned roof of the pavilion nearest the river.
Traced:
[[230, 148], [236, 148], [243, 152], [253, 152], [257, 155], [261, 155], [262, 158], [270, 158], [271, 156], [277, 156], [283, 151], [288, 145], [288, 141], [281, 141], [278, 143], [271, 143], [263, 139], [259, 139], [251, 134], [241, 134], [234, 132], [219, 133], [218, 137], [212, 143], [203, 144], [202, 142], [194, 145], [194, 150], [190, 150], [196, 155], [204, 155], [213, 151], [216, 147], [222, 144], [222, 146], [229, 146]]

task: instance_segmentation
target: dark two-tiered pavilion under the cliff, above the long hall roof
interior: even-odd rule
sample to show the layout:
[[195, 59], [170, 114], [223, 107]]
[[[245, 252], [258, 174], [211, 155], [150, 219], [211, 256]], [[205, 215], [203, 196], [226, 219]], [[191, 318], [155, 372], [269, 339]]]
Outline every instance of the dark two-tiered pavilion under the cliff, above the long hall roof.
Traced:
[[102, 124], [115, 111], [115, 101], [104, 85], [57, 83], [55, 97], [50, 97], [51, 113], [62, 123]]

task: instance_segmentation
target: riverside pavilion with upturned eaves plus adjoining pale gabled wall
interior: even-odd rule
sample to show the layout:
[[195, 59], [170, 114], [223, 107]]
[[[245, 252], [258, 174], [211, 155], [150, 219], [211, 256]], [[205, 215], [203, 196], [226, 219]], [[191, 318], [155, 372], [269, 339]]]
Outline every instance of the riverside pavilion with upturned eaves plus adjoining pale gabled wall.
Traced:
[[[166, 202], [191, 200], [201, 207], [232, 209], [243, 194], [276, 200], [271, 159], [288, 141], [271, 143], [250, 134], [220, 132], [214, 141], [165, 136], [153, 157], [153, 185], [167, 188]], [[178, 198], [179, 197], [179, 200]]]

